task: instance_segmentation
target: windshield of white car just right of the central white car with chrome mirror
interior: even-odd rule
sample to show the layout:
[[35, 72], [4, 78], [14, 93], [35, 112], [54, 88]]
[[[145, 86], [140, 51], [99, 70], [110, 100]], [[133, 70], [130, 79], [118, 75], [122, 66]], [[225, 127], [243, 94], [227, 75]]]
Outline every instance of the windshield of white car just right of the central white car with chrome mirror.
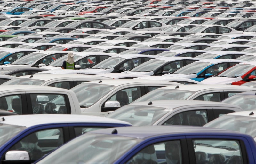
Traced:
[[141, 98], [138, 98], [134, 102], [154, 101], [154, 100], [186, 100], [189, 96], [191, 96], [194, 93], [195, 93], [194, 91], [188, 91], [188, 90], [159, 88], [147, 93]]

